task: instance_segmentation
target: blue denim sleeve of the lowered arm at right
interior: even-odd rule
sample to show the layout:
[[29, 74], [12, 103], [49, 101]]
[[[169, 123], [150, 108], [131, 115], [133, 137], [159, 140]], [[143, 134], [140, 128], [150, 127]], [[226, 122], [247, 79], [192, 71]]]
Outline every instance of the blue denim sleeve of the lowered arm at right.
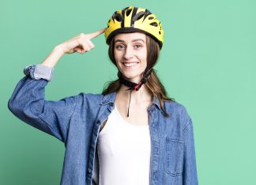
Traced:
[[183, 158], [183, 184], [198, 185], [198, 173], [196, 165], [196, 155], [194, 149], [194, 129], [189, 115], [187, 124], [183, 129], [184, 158]]

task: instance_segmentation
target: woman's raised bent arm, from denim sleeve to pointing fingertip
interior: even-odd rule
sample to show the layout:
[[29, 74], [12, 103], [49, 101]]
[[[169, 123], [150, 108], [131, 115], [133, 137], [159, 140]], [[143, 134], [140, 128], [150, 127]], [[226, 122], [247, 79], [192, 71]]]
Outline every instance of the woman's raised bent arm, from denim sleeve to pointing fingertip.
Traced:
[[66, 131], [76, 107], [77, 96], [46, 101], [45, 87], [53, 79], [54, 66], [63, 54], [76, 51], [83, 54], [91, 50], [94, 45], [90, 39], [102, 32], [104, 29], [88, 35], [77, 35], [56, 46], [41, 64], [24, 68], [25, 76], [17, 83], [9, 98], [9, 110], [25, 123], [66, 142]]

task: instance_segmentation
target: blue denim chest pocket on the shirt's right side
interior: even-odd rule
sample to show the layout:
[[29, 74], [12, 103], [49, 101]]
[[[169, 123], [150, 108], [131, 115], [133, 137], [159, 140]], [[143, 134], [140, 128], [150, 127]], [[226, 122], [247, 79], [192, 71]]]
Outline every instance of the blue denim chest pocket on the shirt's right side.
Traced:
[[166, 172], [171, 176], [180, 176], [183, 174], [183, 139], [166, 138]]

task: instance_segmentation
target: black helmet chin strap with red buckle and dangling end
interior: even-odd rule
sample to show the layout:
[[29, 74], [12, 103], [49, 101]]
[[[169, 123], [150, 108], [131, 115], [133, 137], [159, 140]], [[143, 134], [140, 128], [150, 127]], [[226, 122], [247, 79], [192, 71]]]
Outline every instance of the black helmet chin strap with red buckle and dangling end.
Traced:
[[[147, 74], [141, 79], [140, 83], [134, 83], [134, 82], [130, 82], [129, 80], [125, 80], [122, 77], [121, 72], [118, 72], [118, 76], [119, 76], [119, 81], [127, 86], [130, 87], [129, 89], [126, 89], [126, 91], [130, 90], [130, 99], [131, 99], [131, 93], [132, 91], [139, 91], [139, 89], [141, 88], [141, 86], [146, 83], [147, 81], [147, 77], [151, 74], [152, 72], [152, 68], [149, 70], [149, 72], [147, 72]], [[130, 101], [129, 101], [129, 105], [128, 105], [128, 111], [127, 111], [127, 117], [129, 117], [129, 109], [130, 109]]]

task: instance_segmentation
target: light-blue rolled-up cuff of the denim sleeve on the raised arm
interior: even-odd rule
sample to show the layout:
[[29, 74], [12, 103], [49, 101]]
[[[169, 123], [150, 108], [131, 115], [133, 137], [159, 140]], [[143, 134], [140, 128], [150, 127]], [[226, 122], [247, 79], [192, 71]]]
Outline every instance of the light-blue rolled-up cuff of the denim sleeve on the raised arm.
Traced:
[[47, 81], [53, 80], [55, 68], [46, 65], [28, 65], [24, 68], [24, 75], [30, 76], [34, 80], [44, 79]]

